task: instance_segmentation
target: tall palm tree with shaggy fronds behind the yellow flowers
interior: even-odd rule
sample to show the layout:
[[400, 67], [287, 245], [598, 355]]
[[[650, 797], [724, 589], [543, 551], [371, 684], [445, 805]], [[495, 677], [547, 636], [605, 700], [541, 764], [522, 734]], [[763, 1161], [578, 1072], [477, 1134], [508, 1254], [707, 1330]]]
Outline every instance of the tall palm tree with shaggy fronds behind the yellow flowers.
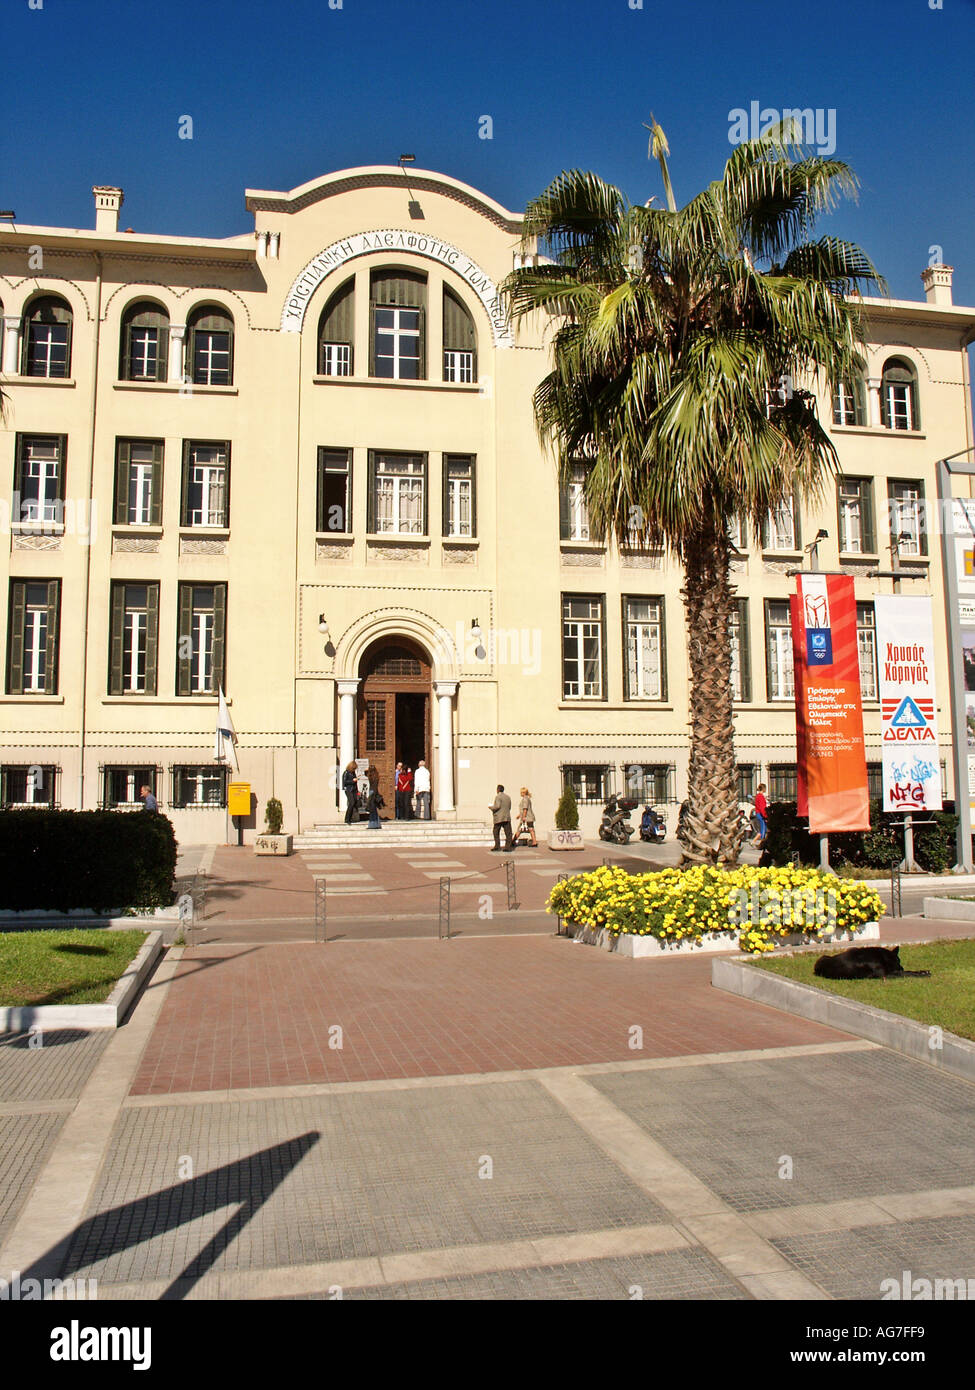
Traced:
[[[652, 120], [652, 118], [651, 118]], [[684, 862], [734, 863], [740, 824], [732, 706], [729, 523], [758, 530], [837, 464], [809, 391], [862, 370], [858, 307], [879, 282], [860, 250], [814, 240], [816, 217], [855, 195], [846, 164], [780, 126], [740, 145], [677, 208], [666, 138], [651, 129], [666, 207], [631, 206], [594, 174], [561, 174], [529, 204], [523, 249], [551, 254], [503, 285], [517, 321], [554, 317], [554, 367], [535, 424], [567, 482], [588, 463], [590, 521], [620, 548], [663, 546], [684, 570], [690, 816]]]

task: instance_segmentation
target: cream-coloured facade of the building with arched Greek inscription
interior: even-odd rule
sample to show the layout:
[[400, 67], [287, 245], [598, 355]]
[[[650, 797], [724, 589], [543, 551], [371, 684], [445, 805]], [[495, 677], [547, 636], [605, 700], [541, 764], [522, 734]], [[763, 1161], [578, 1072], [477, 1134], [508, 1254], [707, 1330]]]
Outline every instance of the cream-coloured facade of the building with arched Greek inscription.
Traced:
[[[545, 830], [566, 769], [588, 769], [586, 784], [594, 791], [601, 785], [597, 770], [611, 769], [613, 790], [629, 777], [643, 795], [627, 769], [647, 766], [659, 769], [647, 798], [661, 805], [668, 796], [673, 826], [687, 774], [680, 574], [659, 556], [620, 556], [586, 539], [584, 518], [567, 503], [561, 527], [555, 468], [540, 449], [531, 411], [547, 370], [541, 325], [512, 332], [495, 303], [519, 253], [519, 215], [445, 175], [359, 168], [289, 193], [252, 190], [255, 234], [209, 240], [118, 231], [120, 190], [95, 192], [95, 231], [0, 225], [0, 382], [7, 398], [0, 502], [8, 499], [0, 762], [7, 802], [22, 799], [29, 767], [56, 769], [58, 803], [85, 808], [129, 798], [142, 769], [154, 769], [160, 805], [178, 837], [223, 841], [225, 812], [207, 802], [220, 783], [207, 770], [217, 696], [196, 688], [210, 680], [207, 652], [211, 666], [217, 653], [207, 641], [223, 623], [239, 780], [252, 784], [260, 808], [250, 835], [271, 795], [284, 803], [285, 830], [342, 817], [337, 769], [353, 755], [373, 758], [364, 738], [382, 737], [380, 705], [387, 735], [391, 723], [401, 728], [389, 756], [414, 762], [420, 751], [426, 755], [441, 819], [487, 820], [501, 781], [515, 794], [520, 785], [531, 788]], [[769, 671], [766, 600], [787, 599], [794, 588], [789, 571], [808, 564], [804, 548], [819, 528], [829, 532], [818, 546], [821, 569], [853, 573], [865, 605], [892, 592], [889, 578], [869, 577], [871, 570], [890, 570], [892, 482], [921, 484], [933, 502], [936, 460], [972, 443], [965, 345], [975, 310], [951, 304], [950, 278], [947, 268], [935, 267], [924, 302], [867, 302], [862, 423], [832, 427], [844, 475], [871, 484], [860, 552], [837, 549], [830, 481], [821, 512], [800, 517], [793, 546], [752, 545], [736, 562], [750, 671], [750, 698], [736, 706], [736, 741], [752, 785], [784, 785], [780, 769], [796, 758], [793, 705], [769, 689], [782, 673]], [[346, 341], [323, 360], [323, 311], [349, 281], [353, 311], [346, 304], [344, 317], [325, 318], [330, 328], [345, 325]], [[392, 282], [399, 289], [389, 292]], [[399, 299], [384, 310], [388, 293]], [[39, 371], [51, 363], [57, 370], [64, 313], [31, 317], [38, 300], [50, 296], [71, 317], [70, 364], [61, 377]], [[146, 368], [152, 342], [145, 334], [129, 341], [127, 316], [146, 303], [168, 327], [157, 341], [164, 381], [128, 379], [129, 350], [143, 353]], [[377, 318], [378, 311], [387, 317]], [[227, 320], [232, 379], [221, 384]], [[445, 343], [448, 320], [453, 336]], [[473, 325], [473, 359], [463, 354], [467, 346], [456, 349], [458, 322]], [[412, 370], [417, 332], [423, 379], [396, 377]], [[376, 375], [380, 357], [394, 375]], [[904, 425], [896, 414], [901, 398], [889, 395], [897, 381], [885, 375], [894, 357], [915, 377], [907, 409], [917, 414], [904, 428], [893, 427]], [[348, 375], [334, 374], [346, 367]], [[460, 379], [445, 381], [445, 370]], [[463, 379], [469, 370], [472, 381]], [[833, 420], [833, 403], [821, 399], [819, 413]], [[120, 442], [143, 446], [145, 457], [146, 442], [156, 448], [156, 512], [145, 473], [140, 482], [125, 473], [135, 510], [120, 502]], [[216, 455], [207, 452], [213, 449]], [[330, 450], [332, 461], [350, 461], [350, 498], [325, 516], [319, 509], [320, 450]], [[214, 459], [229, 471], [228, 495], [227, 471], [216, 481], [206, 474]], [[442, 534], [445, 460], [473, 471], [474, 534]], [[188, 481], [188, 468], [198, 467], [203, 481]], [[403, 475], [403, 468], [414, 471]], [[465, 488], [455, 485], [458, 525], [467, 503]], [[341, 482], [332, 478], [331, 486]], [[334, 496], [328, 492], [325, 502]], [[854, 502], [846, 513], [848, 541], [855, 539], [855, 520]], [[935, 599], [939, 721], [949, 758], [939, 538], [929, 538], [926, 556], [904, 553], [901, 560], [911, 575], [901, 591]], [[54, 592], [51, 581], [60, 581], [57, 613], [38, 598], [45, 582]], [[154, 612], [145, 616], [139, 595], [150, 587], [156, 599], [146, 602]], [[225, 596], [223, 617], [214, 616], [217, 599], [213, 612], [207, 607], [217, 591]], [[562, 614], [573, 595], [595, 605], [598, 673], [580, 673], [572, 662], [565, 667]], [[627, 600], [634, 606], [627, 609]], [[641, 600], [659, 607], [638, 606]], [[327, 634], [320, 631], [323, 616]], [[480, 641], [470, 635], [474, 620]], [[191, 630], [184, 630], [186, 621]], [[49, 637], [54, 627], [56, 642]], [[110, 651], [113, 632], [131, 657], [122, 660], [121, 691], [117, 662], [111, 674], [118, 656], [118, 648], [114, 657]], [[576, 634], [573, 626], [572, 651]], [[181, 638], [188, 644], [182, 656]], [[139, 688], [146, 641], [156, 653], [154, 694]], [[627, 645], [637, 642], [641, 678], [650, 682], [644, 691], [634, 689], [640, 673], [627, 657]], [[381, 644], [399, 649], [399, 664], [394, 660], [385, 684], [380, 681], [370, 734], [363, 682]], [[597, 674], [598, 689], [577, 695], [565, 684]], [[865, 702], [865, 727], [868, 760], [879, 763], [876, 699]], [[35, 791], [26, 795], [46, 799], [36, 783], [43, 791], [49, 774], [29, 776]], [[392, 808], [391, 787], [384, 792]], [[598, 806], [583, 808], [584, 830], [597, 819]]]

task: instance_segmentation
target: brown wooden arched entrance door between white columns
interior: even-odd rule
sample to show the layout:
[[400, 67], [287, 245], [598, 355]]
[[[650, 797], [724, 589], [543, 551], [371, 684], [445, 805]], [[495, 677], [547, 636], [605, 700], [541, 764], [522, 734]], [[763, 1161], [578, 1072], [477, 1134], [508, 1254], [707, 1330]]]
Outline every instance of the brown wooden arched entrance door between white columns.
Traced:
[[376, 767], [380, 791], [392, 806], [396, 763], [416, 770], [423, 758], [430, 767], [433, 667], [419, 644], [394, 637], [366, 651], [359, 676], [356, 748]]

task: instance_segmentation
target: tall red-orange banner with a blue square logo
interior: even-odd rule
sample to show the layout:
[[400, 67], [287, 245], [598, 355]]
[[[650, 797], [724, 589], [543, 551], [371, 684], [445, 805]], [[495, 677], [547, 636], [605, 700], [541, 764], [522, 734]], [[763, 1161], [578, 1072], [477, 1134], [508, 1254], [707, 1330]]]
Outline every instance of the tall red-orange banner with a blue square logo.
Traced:
[[798, 815], [819, 834], [869, 830], [857, 600], [844, 574], [800, 574], [791, 598]]

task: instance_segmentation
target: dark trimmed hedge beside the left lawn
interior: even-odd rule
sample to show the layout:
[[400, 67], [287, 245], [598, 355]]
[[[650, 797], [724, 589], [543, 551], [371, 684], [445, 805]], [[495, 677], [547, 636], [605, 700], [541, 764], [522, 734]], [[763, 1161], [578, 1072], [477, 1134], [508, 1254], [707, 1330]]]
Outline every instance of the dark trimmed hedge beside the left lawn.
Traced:
[[107, 912], [174, 902], [177, 840], [159, 813], [0, 810], [0, 908]]

